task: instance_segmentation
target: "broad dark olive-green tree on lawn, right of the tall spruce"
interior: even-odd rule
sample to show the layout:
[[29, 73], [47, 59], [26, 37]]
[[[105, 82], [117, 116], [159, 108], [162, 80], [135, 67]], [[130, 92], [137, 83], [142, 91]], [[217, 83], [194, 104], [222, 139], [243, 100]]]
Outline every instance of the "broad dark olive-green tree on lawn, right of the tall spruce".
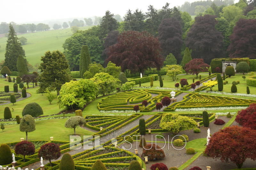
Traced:
[[60, 51], [47, 51], [42, 56], [39, 69], [42, 74], [39, 76], [40, 89], [44, 90], [49, 87], [51, 91], [60, 92], [61, 85], [69, 82], [71, 79], [68, 74], [68, 62], [63, 53]]

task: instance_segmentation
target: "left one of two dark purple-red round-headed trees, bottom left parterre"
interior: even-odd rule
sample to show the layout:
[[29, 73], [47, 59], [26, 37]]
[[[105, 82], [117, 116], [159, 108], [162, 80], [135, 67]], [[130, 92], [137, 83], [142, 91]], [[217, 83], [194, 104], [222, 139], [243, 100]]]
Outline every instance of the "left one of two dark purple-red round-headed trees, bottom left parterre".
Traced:
[[15, 153], [23, 155], [23, 161], [25, 162], [26, 155], [35, 154], [35, 145], [28, 141], [22, 141], [15, 145]]

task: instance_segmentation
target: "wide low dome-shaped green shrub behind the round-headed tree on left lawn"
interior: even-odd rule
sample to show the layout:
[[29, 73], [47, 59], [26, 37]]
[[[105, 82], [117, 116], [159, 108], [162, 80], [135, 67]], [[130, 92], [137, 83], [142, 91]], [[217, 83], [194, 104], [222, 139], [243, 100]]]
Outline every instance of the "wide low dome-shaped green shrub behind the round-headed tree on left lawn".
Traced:
[[44, 112], [42, 107], [35, 102], [28, 103], [22, 110], [22, 116], [31, 115], [32, 117], [37, 117], [43, 114]]

